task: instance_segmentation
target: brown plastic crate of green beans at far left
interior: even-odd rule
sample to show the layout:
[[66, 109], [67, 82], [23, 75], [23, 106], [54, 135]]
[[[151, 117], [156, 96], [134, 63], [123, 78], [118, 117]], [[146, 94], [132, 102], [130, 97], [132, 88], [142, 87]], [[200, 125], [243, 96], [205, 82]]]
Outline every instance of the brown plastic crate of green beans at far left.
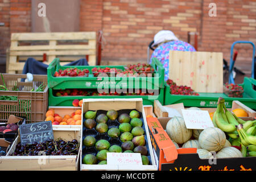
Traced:
[[44, 121], [48, 107], [46, 75], [1, 74], [0, 121], [7, 122], [9, 115], [26, 118], [26, 122]]

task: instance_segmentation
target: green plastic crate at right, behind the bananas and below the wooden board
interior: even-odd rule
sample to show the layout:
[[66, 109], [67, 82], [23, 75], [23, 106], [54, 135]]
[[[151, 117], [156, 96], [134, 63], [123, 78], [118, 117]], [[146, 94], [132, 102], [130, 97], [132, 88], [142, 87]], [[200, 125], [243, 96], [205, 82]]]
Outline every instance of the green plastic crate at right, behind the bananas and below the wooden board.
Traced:
[[217, 107], [219, 97], [225, 99], [225, 105], [228, 108], [232, 107], [234, 100], [242, 102], [242, 104], [256, 109], [256, 91], [253, 90], [253, 85], [256, 85], [256, 80], [245, 77], [243, 84], [243, 97], [228, 97], [225, 93], [199, 93], [199, 96], [181, 96], [170, 93], [170, 86], [166, 83], [164, 105], [178, 104], [183, 102], [185, 107]]

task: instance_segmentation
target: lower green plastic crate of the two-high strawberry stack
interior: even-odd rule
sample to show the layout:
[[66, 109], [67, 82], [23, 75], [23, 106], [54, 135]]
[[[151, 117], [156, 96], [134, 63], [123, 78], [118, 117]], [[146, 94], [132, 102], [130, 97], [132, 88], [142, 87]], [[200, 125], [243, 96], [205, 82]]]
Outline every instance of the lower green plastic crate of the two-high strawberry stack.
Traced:
[[81, 100], [83, 98], [142, 98], [143, 105], [154, 105], [154, 100], [159, 100], [164, 104], [164, 88], [159, 89], [159, 95], [152, 96], [53, 96], [53, 89], [49, 89], [48, 104], [49, 106], [72, 106], [75, 99]]

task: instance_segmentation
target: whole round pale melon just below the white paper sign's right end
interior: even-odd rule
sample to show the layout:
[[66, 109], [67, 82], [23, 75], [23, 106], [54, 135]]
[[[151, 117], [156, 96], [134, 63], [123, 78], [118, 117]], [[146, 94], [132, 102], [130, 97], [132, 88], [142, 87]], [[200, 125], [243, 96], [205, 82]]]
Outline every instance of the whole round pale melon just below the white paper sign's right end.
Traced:
[[226, 135], [217, 127], [208, 127], [199, 135], [199, 146], [208, 151], [219, 151], [225, 146]]

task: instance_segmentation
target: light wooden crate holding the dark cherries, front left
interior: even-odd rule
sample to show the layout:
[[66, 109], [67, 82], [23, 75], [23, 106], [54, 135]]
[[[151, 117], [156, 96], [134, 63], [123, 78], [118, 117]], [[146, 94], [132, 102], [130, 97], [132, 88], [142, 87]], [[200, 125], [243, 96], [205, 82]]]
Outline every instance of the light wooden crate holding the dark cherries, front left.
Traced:
[[[53, 129], [53, 137], [67, 141], [77, 139], [80, 142], [81, 128], [73, 126], [69, 129]], [[7, 155], [0, 157], [0, 171], [77, 171], [79, 169], [80, 154], [77, 156], [11, 156], [18, 142], [19, 136], [14, 140]], [[46, 159], [45, 164], [42, 157]]]

